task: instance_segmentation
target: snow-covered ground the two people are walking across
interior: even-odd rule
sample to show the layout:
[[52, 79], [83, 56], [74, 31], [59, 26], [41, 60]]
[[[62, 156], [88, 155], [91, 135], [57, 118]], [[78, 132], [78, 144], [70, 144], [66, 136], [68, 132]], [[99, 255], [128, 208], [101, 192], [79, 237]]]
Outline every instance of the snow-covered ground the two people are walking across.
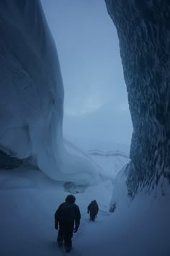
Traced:
[[[150, 196], [140, 194], [131, 202], [125, 175], [117, 177], [115, 185], [108, 178], [76, 194], [81, 225], [73, 235], [71, 255], [169, 256], [169, 185], [164, 193], [160, 186]], [[114, 194], [119, 203], [115, 213], [109, 213]], [[37, 169], [1, 170], [0, 255], [65, 255], [56, 244], [54, 213], [66, 195], [63, 182], [50, 180]], [[95, 223], [86, 213], [93, 199], [99, 203]]]

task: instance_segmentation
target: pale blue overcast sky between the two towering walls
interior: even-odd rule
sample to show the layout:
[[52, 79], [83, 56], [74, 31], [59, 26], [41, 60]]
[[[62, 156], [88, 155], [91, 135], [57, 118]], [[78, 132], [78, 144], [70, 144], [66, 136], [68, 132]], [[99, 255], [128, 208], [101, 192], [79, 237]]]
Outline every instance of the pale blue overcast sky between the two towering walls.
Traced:
[[119, 42], [104, 0], [41, 1], [61, 63], [64, 135], [130, 144]]

